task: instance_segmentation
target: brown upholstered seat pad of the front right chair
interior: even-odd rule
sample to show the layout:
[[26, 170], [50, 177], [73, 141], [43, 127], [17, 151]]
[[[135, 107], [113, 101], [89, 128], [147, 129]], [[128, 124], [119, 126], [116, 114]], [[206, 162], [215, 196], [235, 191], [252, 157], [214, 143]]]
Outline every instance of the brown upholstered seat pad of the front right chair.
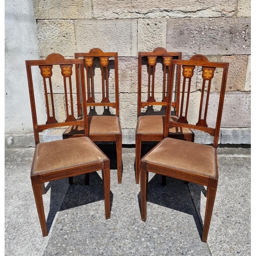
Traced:
[[145, 155], [141, 162], [215, 178], [216, 157], [217, 151], [212, 146], [166, 138]]

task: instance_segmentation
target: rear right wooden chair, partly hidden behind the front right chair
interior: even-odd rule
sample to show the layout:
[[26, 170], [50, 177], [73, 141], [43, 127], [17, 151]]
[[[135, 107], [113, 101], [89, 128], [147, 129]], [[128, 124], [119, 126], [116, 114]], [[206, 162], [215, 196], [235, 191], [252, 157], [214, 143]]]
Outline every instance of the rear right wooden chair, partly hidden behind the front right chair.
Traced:
[[[161, 141], [163, 139], [170, 63], [172, 59], [181, 59], [182, 54], [181, 52], [167, 52], [164, 48], [158, 47], [153, 52], [139, 52], [138, 55], [138, 118], [135, 131], [136, 183], [139, 183], [140, 177], [139, 162], [142, 141]], [[177, 81], [178, 78], [177, 76]], [[172, 102], [172, 106], [175, 111], [172, 120], [177, 120], [180, 99], [178, 85], [174, 91], [175, 100]], [[142, 112], [145, 107], [147, 107], [146, 111]], [[153, 107], [158, 108], [158, 111]], [[169, 130], [169, 137], [194, 141], [194, 133], [187, 128], [172, 128]]]

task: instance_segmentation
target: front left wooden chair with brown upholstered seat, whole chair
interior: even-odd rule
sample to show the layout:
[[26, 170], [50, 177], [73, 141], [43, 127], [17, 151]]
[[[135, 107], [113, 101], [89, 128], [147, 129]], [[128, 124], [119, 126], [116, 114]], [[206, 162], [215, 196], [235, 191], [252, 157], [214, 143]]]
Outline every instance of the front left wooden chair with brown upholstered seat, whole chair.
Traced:
[[[26, 60], [26, 67], [36, 144], [31, 168], [31, 182], [42, 235], [44, 237], [48, 235], [42, 201], [42, 194], [45, 194], [44, 183], [48, 181], [102, 170], [105, 218], [109, 219], [110, 160], [88, 137], [83, 60], [65, 59], [60, 54], [53, 53], [45, 60]], [[36, 78], [36, 73], [39, 72], [38, 67], [42, 76], [40, 87], [42, 90], [38, 90], [38, 79]], [[76, 77], [76, 79], [73, 80], [73, 77]], [[81, 111], [83, 112], [84, 119], [77, 120], [75, 117], [73, 92], [76, 93], [76, 88], [73, 90], [72, 81], [81, 84]], [[40, 94], [39, 97], [37, 94], [34, 94], [35, 90], [37, 94]], [[58, 97], [58, 94], [55, 94], [56, 91], [61, 92], [60, 97]], [[40, 124], [37, 119], [36, 110], [41, 110], [45, 107], [47, 114], [46, 123]], [[63, 117], [61, 111], [63, 111]], [[40, 132], [68, 125], [84, 127], [83, 136], [67, 140], [39, 142]]]

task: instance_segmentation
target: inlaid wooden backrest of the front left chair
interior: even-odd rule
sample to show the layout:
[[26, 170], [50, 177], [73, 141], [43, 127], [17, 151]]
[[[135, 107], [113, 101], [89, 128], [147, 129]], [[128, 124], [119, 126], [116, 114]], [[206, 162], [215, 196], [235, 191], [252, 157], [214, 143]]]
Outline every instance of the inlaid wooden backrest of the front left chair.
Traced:
[[[33, 66], [37, 67], [33, 68]], [[34, 126], [35, 143], [39, 143], [39, 133], [50, 128], [80, 125], [84, 127], [84, 136], [88, 136], [87, 118], [77, 120], [74, 111], [77, 88], [82, 88], [81, 101], [83, 115], [87, 117], [86, 92], [84, 90], [83, 61], [80, 59], [65, 59], [62, 55], [52, 53], [45, 60], [26, 60], [29, 95]], [[37, 84], [38, 71], [42, 79]], [[72, 86], [75, 83], [75, 86]], [[39, 88], [38, 88], [39, 87]], [[36, 115], [36, 95], [34, 91], [44, 91], [46, 107], [46, 123], [39, 124]], [[41, 106], [40, 106], [41, 108]], [[58, 120], [57, 120], [58, 119]]]

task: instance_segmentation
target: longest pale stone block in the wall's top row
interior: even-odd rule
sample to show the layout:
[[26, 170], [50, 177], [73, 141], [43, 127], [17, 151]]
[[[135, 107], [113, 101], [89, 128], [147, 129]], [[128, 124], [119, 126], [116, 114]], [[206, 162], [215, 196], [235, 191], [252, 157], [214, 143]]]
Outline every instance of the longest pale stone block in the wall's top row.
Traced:
[[232, 17], [237, 1], [100, 1], [93, 0], [93, 17], [97, 19], [159, 17]]

